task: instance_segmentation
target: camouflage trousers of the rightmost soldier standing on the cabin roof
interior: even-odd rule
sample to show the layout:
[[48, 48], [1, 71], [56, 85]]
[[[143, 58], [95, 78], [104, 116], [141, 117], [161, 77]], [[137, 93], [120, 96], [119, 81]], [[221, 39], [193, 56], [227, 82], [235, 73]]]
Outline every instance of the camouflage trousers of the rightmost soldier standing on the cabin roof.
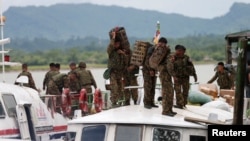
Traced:
[[187, 105], [189, 87], [190, 87], [189, 77], [177, 78], [177, 82], [174, 83], [177, 105], [179, 106]]

